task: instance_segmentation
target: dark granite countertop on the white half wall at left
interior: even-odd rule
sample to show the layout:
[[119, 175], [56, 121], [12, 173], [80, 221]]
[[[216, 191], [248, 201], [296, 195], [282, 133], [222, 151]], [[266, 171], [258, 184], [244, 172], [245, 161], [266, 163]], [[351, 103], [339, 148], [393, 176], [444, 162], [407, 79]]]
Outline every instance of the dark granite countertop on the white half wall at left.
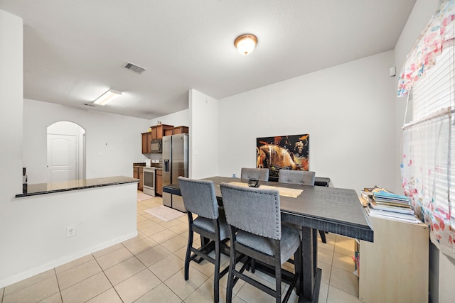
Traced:
[[53, 192], [69, 192], [77, 189], [92, 187], [103, 187], [116, 184], [139, 182], [139, 179], [132, 177], [116, 176], [94, 179], [72, 180], [68, 182], [27, 184], [22, 194], [16, 194], [16, 198], [36, 196], [38, 194], [50, 194]]

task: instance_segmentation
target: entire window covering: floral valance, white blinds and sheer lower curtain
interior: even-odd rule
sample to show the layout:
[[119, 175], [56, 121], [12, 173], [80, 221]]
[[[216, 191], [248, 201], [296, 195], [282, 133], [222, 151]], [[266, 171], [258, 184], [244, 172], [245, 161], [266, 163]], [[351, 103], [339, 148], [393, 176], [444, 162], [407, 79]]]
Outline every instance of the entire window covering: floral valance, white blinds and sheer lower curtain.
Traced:
[[415, 214], [430, 227], [432, 243], [451, 258], [455, 258], [454, 38], [455, 0], [443, 0], [407, 56], [398, 83], [398, 97], [414, 87], [410, 95], [415, 121], [405, 125], [402, 134], [402, 186]]

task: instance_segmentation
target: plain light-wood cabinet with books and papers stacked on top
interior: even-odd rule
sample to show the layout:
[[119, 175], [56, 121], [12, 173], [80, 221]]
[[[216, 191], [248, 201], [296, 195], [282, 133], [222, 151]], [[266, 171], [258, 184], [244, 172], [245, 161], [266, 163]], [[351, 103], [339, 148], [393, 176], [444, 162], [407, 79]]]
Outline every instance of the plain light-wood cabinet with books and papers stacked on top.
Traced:
[[368, 216], [374, 242], [360, 241], [359, 299], [428, 302], [429, 229]]

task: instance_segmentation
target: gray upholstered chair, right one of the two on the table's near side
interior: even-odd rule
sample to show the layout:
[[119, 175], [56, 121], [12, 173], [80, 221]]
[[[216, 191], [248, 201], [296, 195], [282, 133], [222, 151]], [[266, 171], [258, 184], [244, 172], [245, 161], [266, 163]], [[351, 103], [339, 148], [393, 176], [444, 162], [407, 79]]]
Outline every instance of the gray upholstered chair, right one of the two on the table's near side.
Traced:
[[[282, 302], [282, 271], [286, 271], [282, 270], [282, 264], [294, 255], [295, 274], [287, 272], [294, 277], [284, 297], [283, 302], [287, 302], [301, 272], [301, 239], [296, 228], [281, 224], [279, 191], [228, 183], [221, 183], [220, 189], [226, 221], [230, 226], [230, 266], [226, 302], [232, 301], [232, 288], [239, 279], [274, 296], [276, 302]], [[239, 254], [245, 255], [245, 258], [241, 258], [244, 264], [237, 270], [235, 265]], [[243, 273], [251, 260], [274, 268], [276, 280], [274, 290], [255, 280], [254, 275], [249, 277]]]

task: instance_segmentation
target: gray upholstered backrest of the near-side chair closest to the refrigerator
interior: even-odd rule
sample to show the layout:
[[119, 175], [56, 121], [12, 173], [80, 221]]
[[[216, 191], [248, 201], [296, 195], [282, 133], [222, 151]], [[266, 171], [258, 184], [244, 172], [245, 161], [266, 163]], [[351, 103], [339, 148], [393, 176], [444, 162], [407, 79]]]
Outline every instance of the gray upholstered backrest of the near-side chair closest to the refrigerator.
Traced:
[[187, 211], [208, 219], [218, 219], [218, 202], [212, 181], [178, 177], [178, 184]]

